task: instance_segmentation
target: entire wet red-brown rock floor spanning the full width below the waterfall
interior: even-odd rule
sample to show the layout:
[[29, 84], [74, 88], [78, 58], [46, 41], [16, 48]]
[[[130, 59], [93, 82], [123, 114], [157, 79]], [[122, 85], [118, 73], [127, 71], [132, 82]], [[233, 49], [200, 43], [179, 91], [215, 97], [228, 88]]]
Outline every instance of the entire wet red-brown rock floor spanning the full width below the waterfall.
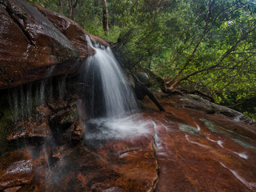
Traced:
[[[0, 190], [256, 191], [255, 126], [186, 108], [177, 96], [159, 102], [166, 112], [144, 100], [146, 110], [135, 115], [144, 127], [127, 132], [133, 134], [120, 138], [115, 130], [109, 135], [104, 122], [98, 130], [90, 124], [81, 127], [78, 118], [70, 129], [58, 131], [58, 138], [70, 133], [66, 142], [56, 145], [55, 137], [29, 146], [32, 158], [26, 151], [3, 155]], [[62, 122], [58, 111], [70, 105], [48, 106]], [[141, 129], [146, 132], [140, 134]], [[23, 167], [30, 169], [23, 173]]]

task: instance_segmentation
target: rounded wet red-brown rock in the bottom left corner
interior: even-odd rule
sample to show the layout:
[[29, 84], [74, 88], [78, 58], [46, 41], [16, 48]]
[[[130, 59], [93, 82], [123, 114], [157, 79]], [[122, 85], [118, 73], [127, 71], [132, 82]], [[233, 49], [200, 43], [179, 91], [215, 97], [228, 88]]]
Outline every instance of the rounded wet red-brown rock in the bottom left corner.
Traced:
[[17, 191], [33, 177], [33, 160], [26, 151], [13, 151], [0, 159], [0, 190]]

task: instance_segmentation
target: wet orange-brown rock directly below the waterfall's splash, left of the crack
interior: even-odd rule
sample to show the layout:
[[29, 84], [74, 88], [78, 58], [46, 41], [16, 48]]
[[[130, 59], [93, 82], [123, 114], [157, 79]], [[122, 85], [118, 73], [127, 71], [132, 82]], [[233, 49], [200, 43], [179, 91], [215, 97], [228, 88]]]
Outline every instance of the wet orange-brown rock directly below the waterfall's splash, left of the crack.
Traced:
[[135, 150], [132, 142], [123, 141], [108, 142], [100, 149], [82, 144], [62, 149], [62, 157], [47, 170], [46, 190], [153, 191], [158, 165], [152, 142], [145, 142]]

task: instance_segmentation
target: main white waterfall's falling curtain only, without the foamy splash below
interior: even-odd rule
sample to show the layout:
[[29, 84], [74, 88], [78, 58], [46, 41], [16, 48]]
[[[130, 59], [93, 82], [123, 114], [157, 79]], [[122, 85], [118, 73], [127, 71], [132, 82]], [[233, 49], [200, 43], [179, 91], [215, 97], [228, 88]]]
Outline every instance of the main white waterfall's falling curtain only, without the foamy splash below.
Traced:
[[87, 114], [91, 118], [122, 118], [138, 110], [133, 90], [125, 74], [114, 58], [110, 47], [94, 45], [87, 36], [89, 45], [96, 54], [87, 58], [83, 79], [90, 99], [87, 99]]

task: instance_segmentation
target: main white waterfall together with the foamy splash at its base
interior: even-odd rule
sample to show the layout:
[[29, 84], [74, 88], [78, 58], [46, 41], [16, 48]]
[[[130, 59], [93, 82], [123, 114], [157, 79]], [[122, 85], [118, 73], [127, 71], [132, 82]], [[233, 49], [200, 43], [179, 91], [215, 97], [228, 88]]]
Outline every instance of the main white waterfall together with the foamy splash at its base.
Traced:
[[[148, 122], [142, 121], [134, 92], [114, 58], [110, 47], [89, 45], [96, 53], [87, 58], [82, 71], [86, 114], [86, 141], [130, 138], [146, 134]], [[90, 128], [88, 128], [90, 127]]]

